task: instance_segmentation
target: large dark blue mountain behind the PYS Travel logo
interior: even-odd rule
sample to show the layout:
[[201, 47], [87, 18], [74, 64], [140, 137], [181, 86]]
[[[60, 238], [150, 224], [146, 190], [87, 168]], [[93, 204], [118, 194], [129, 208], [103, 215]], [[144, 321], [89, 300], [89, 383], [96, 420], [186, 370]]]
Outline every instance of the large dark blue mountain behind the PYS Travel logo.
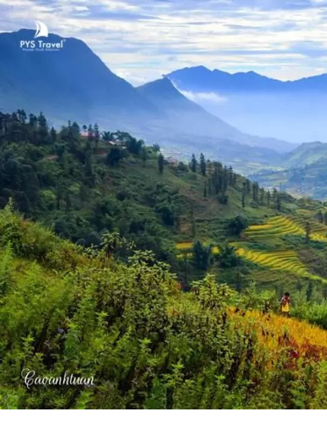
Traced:
[[[126, 123], [131, 114], [132, 121], [147, 115], [162, 116], [83, 41], [66, 38], [57, 52], [22, 51], [19, 41], [33, 37], [32, 30], [0, 34], [0, 110], [42, 109], [60, 121], [73, 118], [87, 122], [100, 117], [108, 125], [119, 122], [121, 127], [131, 124]], [[46, 42], [61, 39], [50, 34]]]

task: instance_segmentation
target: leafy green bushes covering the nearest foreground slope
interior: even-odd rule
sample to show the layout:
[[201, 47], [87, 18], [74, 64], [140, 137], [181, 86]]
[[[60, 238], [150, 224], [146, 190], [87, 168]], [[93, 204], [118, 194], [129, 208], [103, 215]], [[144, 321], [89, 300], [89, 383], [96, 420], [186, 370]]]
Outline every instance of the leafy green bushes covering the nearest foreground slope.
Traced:
[[[223, 259], [230, 258], [226, 247]], [[245, 297], [211, 274], [182, 293], [167, 264], [133, 251], [117, 233], [106, 233], [98, 249], [83, 249], [22, 221], [10, 204], [0, 212], [0, 260], [2, 409], [325, 404], [325, 362], [294, 364], [289, 347], [272, 355], [251, 320], [230, 313]], [[94, 377], [95, 384], [28, 389], [22, 369]]]

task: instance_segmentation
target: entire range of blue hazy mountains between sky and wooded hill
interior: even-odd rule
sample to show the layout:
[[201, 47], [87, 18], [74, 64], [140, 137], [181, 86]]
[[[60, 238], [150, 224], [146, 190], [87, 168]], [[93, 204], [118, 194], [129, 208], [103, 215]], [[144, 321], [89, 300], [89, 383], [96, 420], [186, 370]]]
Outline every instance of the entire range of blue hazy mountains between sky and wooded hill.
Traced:
[[[314, 95], [316, 101], [324, 98], [327, 75], [282, 82], [254, 72], [229, 74], [198, 66], [136, 88], [115, 75], [79, 39], [64, 39], [58, 51], [20, 48], [21, 40], [33, 38], [34, 31], [27, 29], [0, 33], [1, 111], [42, 110], [57, 127], [67, 119], [80, 124], [97, 122], [101, 129], [125, 130], [146, 142], [159, 142], [165, 154], [181, 159], [202, 151], [244, 174], [262, 166], [285, 168], [285, 153], [296, 144], [274, 139], [278, 129], [271, 131], [271, 137], [265, 135], [274, 121], [297, 132], [299, 138], [303, 130], [303, 137], [309, 131], [318, 132], [315, 123], [324, 126], [324, 117], [317, 116], [319, 110], [325, 110], [324, 105], [316, 107], [311, 97]], [[61, 39], [49, 34], [46, 42]], [[201, 105], [199, 99], [203, 100]], [[287, 99], [298, 101], [290, 105]], [[214, 108], [208, 107], [211, 100]], [[283, 110], [275, 111], [272, 100]], [[311, 112], [303, 109], [308, 105]], [[292, 117], [298, 114], [296, 125], [289, 122], [290, 113]], [[315, 123], [310, 122], [313, 118]], [[248, 133], [236, 128], [238, 124], [246, 124]], [[253, 128], [251, 124], [255, 124]], [[258, 129], [263, 136], [250, 134]]]

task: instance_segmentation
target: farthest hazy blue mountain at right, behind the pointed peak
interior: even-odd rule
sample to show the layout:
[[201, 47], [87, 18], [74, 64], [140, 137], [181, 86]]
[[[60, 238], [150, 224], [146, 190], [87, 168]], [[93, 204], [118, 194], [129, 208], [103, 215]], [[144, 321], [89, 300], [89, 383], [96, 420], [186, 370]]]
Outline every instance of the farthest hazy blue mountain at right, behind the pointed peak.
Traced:
[[327, 141], [327, 74], [295, 81], [204, 66], [168, 75], [187, 97], [246, 133], [289, 142]]

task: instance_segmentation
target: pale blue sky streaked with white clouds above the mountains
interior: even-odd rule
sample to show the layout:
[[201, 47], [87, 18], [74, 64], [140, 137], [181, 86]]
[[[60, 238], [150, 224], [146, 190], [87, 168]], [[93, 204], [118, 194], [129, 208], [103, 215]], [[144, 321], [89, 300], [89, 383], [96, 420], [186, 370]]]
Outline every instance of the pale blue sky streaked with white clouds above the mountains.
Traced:
[[0, 32], [35, 20], [133, 85], [196, 65], [281, 80], [327, 72], [327, 0], [0, 0]]

